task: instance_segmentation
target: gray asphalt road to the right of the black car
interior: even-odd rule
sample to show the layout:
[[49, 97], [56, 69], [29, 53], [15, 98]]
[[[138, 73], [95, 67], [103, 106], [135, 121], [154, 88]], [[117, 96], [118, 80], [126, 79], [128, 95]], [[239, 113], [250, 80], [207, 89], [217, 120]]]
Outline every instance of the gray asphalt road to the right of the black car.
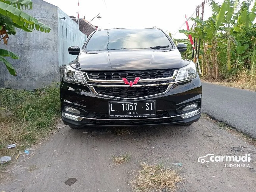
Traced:
[[256, 138], [256, 92], [202, 83], [202, 111]]

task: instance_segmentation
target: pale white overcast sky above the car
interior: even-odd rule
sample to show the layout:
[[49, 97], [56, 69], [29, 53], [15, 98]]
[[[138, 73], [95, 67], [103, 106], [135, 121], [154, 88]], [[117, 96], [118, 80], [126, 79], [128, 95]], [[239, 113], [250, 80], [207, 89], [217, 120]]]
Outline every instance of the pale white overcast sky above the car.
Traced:
[[[56, 5], [67, 15], [77, 16], [78, 0], [44, 0]], [[208, 1], [208, 0], [206, 0]], [[187, 17], [196, 10], [203, 0], [80, 0], [80, 18], [85, 16], [90, 21], [100, 13], [101, 19], [95, 18], [90, 23], [99, 28], [120, 27], [157, 27], [174, 34], [185, 23]], [[223, 0], [216, 0], [223, 2]], [[199, 17], [201, 17], [201, 11]], [[209, 3], [205, 5], [204, 20], [212, 15]], [[194, 14], [195, 16], [195, 14]], [[191, 27], [193, 21], [189, 21]], [[181, 29], [186, 29], [184, 25]], [[186, 39], [177, 32], [174, 38]]]

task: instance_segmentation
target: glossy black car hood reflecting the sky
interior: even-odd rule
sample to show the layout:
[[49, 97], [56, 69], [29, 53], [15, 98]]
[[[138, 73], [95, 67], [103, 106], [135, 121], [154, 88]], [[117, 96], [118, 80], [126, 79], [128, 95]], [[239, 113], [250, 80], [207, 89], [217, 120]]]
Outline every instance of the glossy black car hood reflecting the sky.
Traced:
[[69, 63], [83, 71], [99, 70], [144, 70], [181, 68], [190, 61], [183, 60], [177, 49], [173, 50], [108, 50], [82, 51]]

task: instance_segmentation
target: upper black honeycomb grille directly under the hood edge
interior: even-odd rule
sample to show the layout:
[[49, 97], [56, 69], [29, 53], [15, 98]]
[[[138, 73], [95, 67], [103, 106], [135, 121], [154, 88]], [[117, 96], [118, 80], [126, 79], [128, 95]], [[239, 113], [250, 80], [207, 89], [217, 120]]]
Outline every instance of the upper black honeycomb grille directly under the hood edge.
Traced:
[[156, 79], [172, 77], [173, 69], [164, 70], [150, 70], [150, 71], [101, 71], [101, 72], [87, 72], [90, 79], [101, 80], [120, 80], [126, 78], [127, 80], [134, 80], [136, 77], [140, 79]]

